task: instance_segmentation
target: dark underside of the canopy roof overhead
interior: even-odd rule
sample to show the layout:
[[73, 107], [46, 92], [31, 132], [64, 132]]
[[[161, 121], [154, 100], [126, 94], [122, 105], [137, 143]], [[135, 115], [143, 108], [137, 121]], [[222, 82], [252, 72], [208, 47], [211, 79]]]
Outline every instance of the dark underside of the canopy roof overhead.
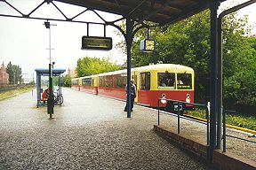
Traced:
[[[56, 0], [88, 9], [110, 12], [135, 20], [148, 20], [164, 25], [209, 8], [215, 0]], [[223, 2], [226, 0], [220, 0]]]

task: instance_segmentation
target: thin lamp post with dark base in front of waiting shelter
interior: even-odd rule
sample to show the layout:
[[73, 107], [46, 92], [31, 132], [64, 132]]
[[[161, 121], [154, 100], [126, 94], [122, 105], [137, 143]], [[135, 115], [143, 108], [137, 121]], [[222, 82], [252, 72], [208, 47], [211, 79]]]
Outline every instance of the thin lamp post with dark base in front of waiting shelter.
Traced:
[[53, 107], [54, 107], [54, 98], [52, 91], [52, 52], [51, 52], [51, 26], [57, 26], [56, 24], [50, 24], [47, 20], [44, 22], [44, 26], [49, 29], [49, 55], [50, 55], [50, 63], [49, 63], [49, 90], [50, 94], [47, 99], [47, 113], [50, 114], [50, 119], [52, 119]]

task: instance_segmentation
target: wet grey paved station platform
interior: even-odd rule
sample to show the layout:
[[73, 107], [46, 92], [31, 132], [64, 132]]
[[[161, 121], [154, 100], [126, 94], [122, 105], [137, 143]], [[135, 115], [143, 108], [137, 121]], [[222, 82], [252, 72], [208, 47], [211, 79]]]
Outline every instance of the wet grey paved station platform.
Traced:
[[[154, 132], [156, 110], [135, 105], [128, 119], [124, 102], [73, 89], [63, 96], [52, 120], [31, 92], [0, 101], [0, 169], [214, 169]], [[160, 124], [176, 131], [174, 116]], [[181, 120], [180, 133], [201, 143], [205, 129]], [[255, 144], [242, 145], [254, 160]]]

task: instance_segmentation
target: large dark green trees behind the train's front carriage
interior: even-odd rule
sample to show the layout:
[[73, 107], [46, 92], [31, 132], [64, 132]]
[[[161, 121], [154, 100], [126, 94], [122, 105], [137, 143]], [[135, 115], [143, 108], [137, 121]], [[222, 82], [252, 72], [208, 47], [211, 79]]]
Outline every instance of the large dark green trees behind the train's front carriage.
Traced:
[[[256, 104], [256, 36], [246, 28], [248, 17], [237, 13], [223, 19], [223, 94], [224, 105]], [[124, 27], [124, 24], [121, 26]], [[195, 70], [195, 101], [206, 103], [210, 91], [210, 11], [206, 10], [170, 26], [153, 28], [156, 51], [140, 52], [140, 40], [147, 37], [139, 31], [132, 42], [132, 65], [173, 63]], [[123, 45], [118, 44], [120, 48]], [[117, 46], [117, 47], [118, 47]]]

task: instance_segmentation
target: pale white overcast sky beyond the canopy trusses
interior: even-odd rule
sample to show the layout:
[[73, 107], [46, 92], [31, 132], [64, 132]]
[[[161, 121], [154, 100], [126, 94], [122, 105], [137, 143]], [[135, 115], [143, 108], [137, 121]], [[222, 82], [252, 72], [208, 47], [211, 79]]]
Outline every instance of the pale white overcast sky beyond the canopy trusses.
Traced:
[[[248, 0], [228, 0], [221, 4], [220, 10], [232, 7], [236, 4], [244, 3]], [[20, 12], [28, 14], [41, 4], [42, 0], [7, 0], [10, 4], [15, 6]], [[83, 12], [85, 8], [77, 7], [70, 4], [61, 4], [54, 2], [60, 7], [68, 18], [76, 16], [79, 12]], [[249, 16], [249, 25], [254, 27], [253, 34], [256, 34], [256, 4], [252, 4], [240, 10], [240, 16]], [[1, 14], [14, 14], [10, 7], [0, 2]], [[100, 12], [100, 15], [112, 21], [119, 19], [120, 16], [113, 15], [106, 12]], [[42, 18], [56, 18], [64, 19], [60, 12], [53, 8], [52, 4], [44, 4], [38, 11], [34, 12], [32, 17]], [[82, 19], [83, 18], [83, 19]], [[92, 22], [102, 22], [92, 12], [85, 12], [77, 19]], [[116, 35], [118, 30], [115, 27], [107, 27], [107, 36], [113, 39], [113, 49], [108, 51], [103, 50], [81, 50], [81, 39], [87, 33], [86, 24], [74, 22], [60, 22], [50, 21], [56, 26], [51, 27], [51, 57], [55, 62], [55, 68], [75, 69], [78, 58], [85, 56], [103, 58], [109, 57], [112, 62], [118, 65], [124, 64], [126, 55], [117, 50], [115, 45], [117, 42], [124, 41], [124, 37]], [[103, 27], [100, 25], [90, 25], [89, 35], [103, 36]], [[13, 65], [19, 65], [22, 69], [22, 76], [24, 78], [31, 78], [35, 73], [36, 68], [47, 68], [49, 65], [50, 51], [49, 51], [49, 29], [44, 27], [44, 20], [38, 19], [17, 19], [0, 16], [0, 63], [4, 65], [11, 61]]]

